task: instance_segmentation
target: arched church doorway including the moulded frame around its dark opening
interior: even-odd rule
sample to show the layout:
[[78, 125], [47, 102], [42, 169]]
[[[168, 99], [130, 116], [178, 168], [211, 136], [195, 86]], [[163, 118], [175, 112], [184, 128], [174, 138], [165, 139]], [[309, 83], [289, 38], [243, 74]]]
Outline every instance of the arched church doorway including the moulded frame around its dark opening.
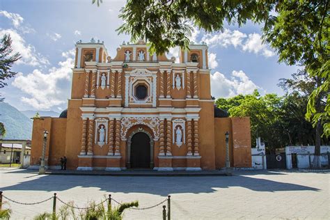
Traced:
[[154, 141], [145, 129], [136, 129], [127, 140], [127, 168], [153, 168]]

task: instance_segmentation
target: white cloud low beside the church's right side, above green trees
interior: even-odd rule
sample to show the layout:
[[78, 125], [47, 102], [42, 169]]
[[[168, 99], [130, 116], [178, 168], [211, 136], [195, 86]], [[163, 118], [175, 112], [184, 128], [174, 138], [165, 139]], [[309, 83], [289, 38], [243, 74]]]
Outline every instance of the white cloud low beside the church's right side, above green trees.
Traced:
[[226, 78], [221, 72], [214, 72], [211, 75], [211, 92], [214, 97], [233, 97], [238, 94], [250, 94], [259, 86], [242, 70], [233, 71], [230, 79]]

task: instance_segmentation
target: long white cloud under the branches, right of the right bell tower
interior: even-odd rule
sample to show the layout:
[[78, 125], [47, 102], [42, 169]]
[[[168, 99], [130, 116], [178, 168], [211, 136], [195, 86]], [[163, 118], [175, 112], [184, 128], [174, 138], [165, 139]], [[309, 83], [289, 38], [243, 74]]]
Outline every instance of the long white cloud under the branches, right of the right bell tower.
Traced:
[[258, 33], [250, 33], [247, 36], [240, 31], [231, 31], [225, 29], [222, 33], [210, 34], [203, 36], [202, 41], [205, 41], [210, 47], [228, 47], [233, 45], [235, 48], [240, 48], [244, 52], [254, 54], [262, 54], [262, 56], [270, 57], [275, 53], [262, 43], [261, 36]]

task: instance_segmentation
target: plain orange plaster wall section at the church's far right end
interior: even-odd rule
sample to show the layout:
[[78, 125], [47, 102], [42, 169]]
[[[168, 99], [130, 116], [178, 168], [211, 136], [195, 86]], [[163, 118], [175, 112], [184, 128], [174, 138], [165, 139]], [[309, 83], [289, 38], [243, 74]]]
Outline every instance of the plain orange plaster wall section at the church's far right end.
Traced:
[[231, 118], [233, 123], [233, 152], [235, 167], [251, 167], [250, 118]]

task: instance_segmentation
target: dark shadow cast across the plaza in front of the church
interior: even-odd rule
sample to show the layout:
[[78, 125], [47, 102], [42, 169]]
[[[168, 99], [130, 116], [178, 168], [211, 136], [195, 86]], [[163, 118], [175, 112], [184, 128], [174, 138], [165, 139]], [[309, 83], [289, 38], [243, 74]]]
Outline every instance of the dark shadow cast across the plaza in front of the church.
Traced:
[[[260, 175], [278, 175], [274, 171], [258, 172]], [[217, 188], [243, 187], [253, 191], [319, 191], [313, 187], [251, 178], [253, 172], [237, 172], [233, 176], [154, 177], [154, 176], [91, 176], [91, 175], [37, 175], [36, 172], [16, 170], [2, 173], [2, 177], [26, 173], [24, 181], [2, 187], [1, 191], [64, 191], [74, 187], [97, 187], [109, 193], [145, 193], [166, 196], [180, 193], [212, 193]], [[254, 175], [256, 175], [255, 173]], [[253, 174], [252, 174], [253, 175]]]

